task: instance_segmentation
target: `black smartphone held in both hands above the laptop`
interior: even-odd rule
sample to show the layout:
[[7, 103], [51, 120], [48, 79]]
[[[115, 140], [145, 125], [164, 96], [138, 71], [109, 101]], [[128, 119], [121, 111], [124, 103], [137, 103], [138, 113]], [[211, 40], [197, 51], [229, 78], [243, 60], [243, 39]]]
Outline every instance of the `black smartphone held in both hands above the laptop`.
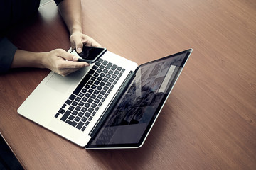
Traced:
[[106, 48], [102, 47], [88, 47], [88, 46], [83, 46], [82, 47], [82, 52], [78, 53], [74, 49], [70, 53], [73, 55], [77, 55], [78, 62], [87, 62], [87, 63], [94, 63], [96, 62], [104, 53], [107, 51]]

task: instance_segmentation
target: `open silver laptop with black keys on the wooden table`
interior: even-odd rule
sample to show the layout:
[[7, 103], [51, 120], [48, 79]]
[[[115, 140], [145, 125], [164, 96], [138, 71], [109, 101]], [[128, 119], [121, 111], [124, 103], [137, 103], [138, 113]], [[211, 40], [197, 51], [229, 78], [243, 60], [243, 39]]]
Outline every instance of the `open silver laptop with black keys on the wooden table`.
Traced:
[[107, 51], [67, 77], [50, 72], [18, 113], [86, 149], [142, 147], [191, 52], [138, 66]]

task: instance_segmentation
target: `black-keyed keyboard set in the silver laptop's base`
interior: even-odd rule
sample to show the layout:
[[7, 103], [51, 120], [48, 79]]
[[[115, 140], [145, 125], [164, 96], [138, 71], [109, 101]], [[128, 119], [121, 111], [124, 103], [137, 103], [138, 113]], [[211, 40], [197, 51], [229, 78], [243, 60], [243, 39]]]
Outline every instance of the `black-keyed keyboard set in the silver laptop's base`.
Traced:
[[99, 59], [82, 79], [55, 118], [84, 131], [125, 69]]

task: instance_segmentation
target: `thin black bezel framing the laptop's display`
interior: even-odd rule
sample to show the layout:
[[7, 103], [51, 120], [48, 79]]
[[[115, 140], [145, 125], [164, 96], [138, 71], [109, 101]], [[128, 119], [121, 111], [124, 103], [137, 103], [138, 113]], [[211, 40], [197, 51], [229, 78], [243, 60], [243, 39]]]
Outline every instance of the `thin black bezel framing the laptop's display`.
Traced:
[[[139, 65], [139, 67], [142, 67], [142, 66], [144, 66], [146, 64], [151, 64], [153, 62], [159, 62], [161, 60], [166, 60], [169, 57], [175, 57], [177, 55], [181, 55], [183, 53], [186, 53], [186, 56], [184, 57], [184, 60], [181, 63], [181, 66], [178, 68], [178, 72], [176, 72], [176, 74], [174, 76], [174, 81], [172, 81], [171, 84], [169, 85], [169, 87], [166, 89], [166, 93], [164, 94], [163, 98], [161, 99], [161, 101], [159, 103], [159, 106], [156, 108], [156, 111], [155, 111], [154, 115], [152, 116], [151, 120], [149, 121], [149, 124], [147, 125], [146, 129], [144, 130], [144, 133], [143, 133], [141, 139], [139, 140], [139, 142], [137, 142], [137, 143], [128, 143], [128, 144], [92, 145], [91, 143], [94, 140], [94, 137], [97, 135], [97, 132], [100, 131], [100, 128], [99, 128], [99, 130], [96, 132], [94, 137], [91, 138], [90, 142], [88, 142], [88, 144], [86, 145], [85, 148], [86, 149], [102, 149], [102, 148], [105, 148], [105, 149], [107, 149], [107, 148], [110, 148], [110, 149], [121, 149], [121, 148], [139, 148], [139, 147], [142, 147], [142, 145], [144, 144], [144, 141], [146, 140], [147, 135], [149, 135], [149, 132], [150, 132], [151, 128], [153, 127], [155, 121], [156, 121], [156, 118], [158, 117], [159, 113], [161, 112], [161, 109], [163, 108], [164, 103], [166, 102], [167, 98], [171, 94], [171, 90], [173, 89], [174, 84], [176, 83], [179, 75], [181, 74], [181, 71], [183, 70], [183, 67], [186, 64], [186, 62], [188, 60], [188, 57], [191, 55], [191, 52], [192, 52], [192, 49], [188, 49], [188, 50], [185, 50], [183, 52], [178, 52], [178, 53], [176, 53], [174, 55], [169, 55], [169, 56], [166, 56], [166, 57], [162, 57], [161, 59], [154, 60], [154, 61], [147, 62], [145, 64]], [[139, 67], [137, 67], [135, 72], [137, 72]], [[111, 113], [111, 111], [110, 111], [110, 113]], [[107, 120], [107, 118], [105, 120]], [[104, 124], [105, 124], [105, 121], [102, 122], [101, 128], [102, 128], [102, 125], [104, 125]]]

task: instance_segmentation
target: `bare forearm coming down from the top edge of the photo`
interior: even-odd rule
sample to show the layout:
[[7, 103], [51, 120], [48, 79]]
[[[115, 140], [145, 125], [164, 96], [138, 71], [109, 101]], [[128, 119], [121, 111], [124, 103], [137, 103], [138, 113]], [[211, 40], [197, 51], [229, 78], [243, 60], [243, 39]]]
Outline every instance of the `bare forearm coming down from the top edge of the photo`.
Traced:
[[60, 15], [63, 17], [70, 35], [75, 31], [82, 33], [82, 8], [80, 0], [63, 0], [58, 5]]

